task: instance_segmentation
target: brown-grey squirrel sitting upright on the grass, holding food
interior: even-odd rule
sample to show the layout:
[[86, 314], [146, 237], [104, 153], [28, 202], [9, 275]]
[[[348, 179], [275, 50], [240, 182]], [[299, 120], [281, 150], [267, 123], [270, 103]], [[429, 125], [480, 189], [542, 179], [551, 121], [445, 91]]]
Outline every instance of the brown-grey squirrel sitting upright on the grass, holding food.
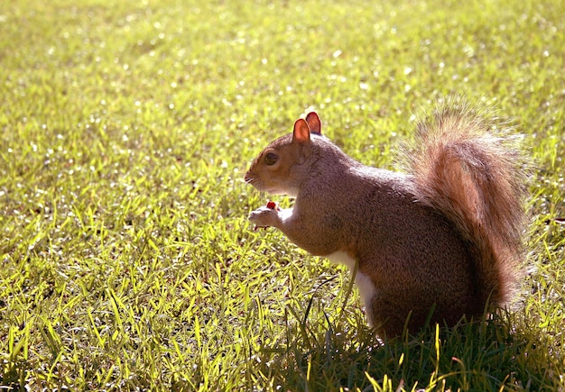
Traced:
[[476, 105], [446, 99], [417, 123], [403, 174], [347, 156], [311, 112], [245, 173], [294, 205], [263, 206], [249, 220], [357, 271], [381, 336], [481, 317], [507, 305], [523, 275], [526, 170], [517, 138], [494, 124]]

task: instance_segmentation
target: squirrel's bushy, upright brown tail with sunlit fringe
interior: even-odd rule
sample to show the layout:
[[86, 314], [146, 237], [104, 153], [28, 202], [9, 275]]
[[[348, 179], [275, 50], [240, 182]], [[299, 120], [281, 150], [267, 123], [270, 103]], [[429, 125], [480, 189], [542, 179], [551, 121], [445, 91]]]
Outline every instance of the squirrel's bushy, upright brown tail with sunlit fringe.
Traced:
[[410, 167], [420, 201], [469, 243], [481, 304], [504, 305], [523, 266], [526, 170], [518, 138], [496, 119], [449, 98], [417, 125]]

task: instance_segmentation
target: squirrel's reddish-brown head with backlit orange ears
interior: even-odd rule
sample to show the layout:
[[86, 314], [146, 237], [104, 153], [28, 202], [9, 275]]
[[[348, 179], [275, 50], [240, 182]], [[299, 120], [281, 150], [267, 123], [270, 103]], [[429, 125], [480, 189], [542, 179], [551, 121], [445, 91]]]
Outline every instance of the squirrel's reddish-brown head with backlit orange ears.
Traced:
[[245, 182], [272, 195], [297, 196], [308, 176], [313, 143], [310, 133], [321, 135], [320, 117], [314, 112], [294, 123], [292, 134], [271, 142], [245, 173]]

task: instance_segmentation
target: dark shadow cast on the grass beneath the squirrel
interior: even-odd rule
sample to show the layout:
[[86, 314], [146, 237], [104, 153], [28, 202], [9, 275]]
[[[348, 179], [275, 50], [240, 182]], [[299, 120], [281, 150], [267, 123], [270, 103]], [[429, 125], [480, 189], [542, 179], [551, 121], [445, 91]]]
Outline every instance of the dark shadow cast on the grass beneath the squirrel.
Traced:
[[[305, 327], [287, 348], [264, 351], [260, 373], [280, 390], [557, 390], [549, 351], [533, 332], [515, 331], [515, 315], [454, 328], [430, 328], [386, 342], [357, 332]], [[524, 325], [520, 323], [520, 325]]]

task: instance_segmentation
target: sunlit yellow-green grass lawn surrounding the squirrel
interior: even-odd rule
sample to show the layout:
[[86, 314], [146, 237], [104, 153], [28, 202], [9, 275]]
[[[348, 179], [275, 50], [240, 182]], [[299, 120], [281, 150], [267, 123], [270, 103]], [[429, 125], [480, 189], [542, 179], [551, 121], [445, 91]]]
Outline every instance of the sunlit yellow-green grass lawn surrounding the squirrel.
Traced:
[[[480, 3], [3, 2], [0, 389], [565, 389], [565, 5]], [[495, 320], [380, 342], [345, 268], [251, 230], [243, 173], [311, 108], [394, 167], [449, 93], [527, 135], [533, 269]]]

